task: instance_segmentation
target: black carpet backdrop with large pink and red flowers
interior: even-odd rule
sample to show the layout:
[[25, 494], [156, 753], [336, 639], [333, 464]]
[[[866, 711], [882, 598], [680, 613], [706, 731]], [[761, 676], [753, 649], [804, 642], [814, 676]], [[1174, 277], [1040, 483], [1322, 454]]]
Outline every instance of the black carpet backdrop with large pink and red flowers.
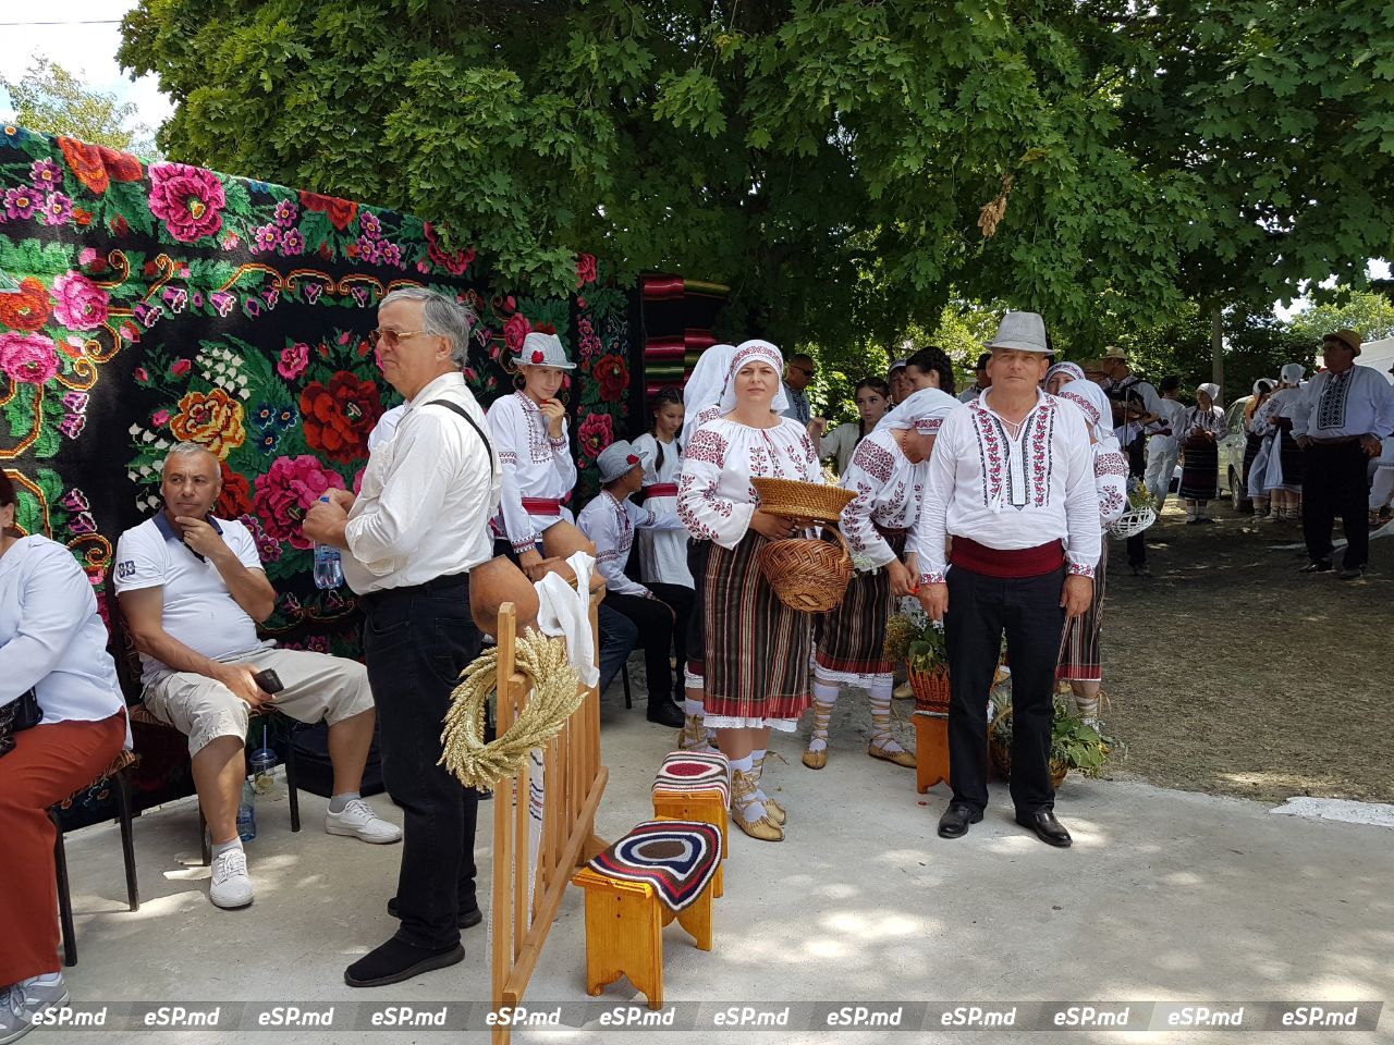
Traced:
[[400, 398], [367, 333], [401, 286], [480, 315], [466, 378], [485, 407], [512, 389], [509, 350], [534, 329], [560, 336], [580, 364], [567, 394], [591, 495], [595, 456], [629, 431], [641, 351], [637, 294], [594, 256], [577, 258], [573, 295], [523, 297], [410, 215], [4, 127], [0, 458], [18, 525], [68, 545], [106, 613], [117, 536], [160, 504], [169, 447], [202, 443], [222, 461], [217, 514], [251, 528], [280, 594], [268, 630], [357, 653], [351, 595], [312, 585], [300, 518], [357, 486]]

